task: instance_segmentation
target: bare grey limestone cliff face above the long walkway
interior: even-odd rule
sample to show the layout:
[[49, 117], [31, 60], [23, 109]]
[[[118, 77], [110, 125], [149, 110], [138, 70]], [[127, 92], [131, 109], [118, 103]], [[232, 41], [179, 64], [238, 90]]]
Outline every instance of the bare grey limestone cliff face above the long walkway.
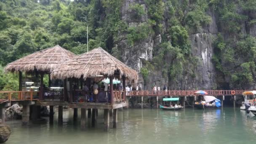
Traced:
[[[122, 21], [125, 21], [128, 28], [139, 27], [141, 24], [150, 23], [152, 16], [149, 14], [150, 6], [148, 5], [147, 1], [148, 0], [123, 0], [121, 7], [121, 19]], [[187, 63], [183, 64], [180, 72], [181, 75], [175, 78], [168, 76], [170, 73], [170, 68], [165, 70], [167, 71], [167, 76], [163, 74], [163, 67], [165, 67], [163, 65], [162, 68], [155, 68], [149, 72], [147, 80], [145, 80], [143, 75], [141, 75], [141, 68], [145, 67], [145, 61], [149, 61], [151, 64], [154, 63], [154, 57], [157, 56], [158, 52], [160, 51], [162, 46], [161, 44], [166, 42], [172, 43], [172, 33], [168, 30], [169, 28], [173, 27], [169, 21], [173, 18], [173, 16], [169, 14], [171, 6], [169, 6], [168, 0], [162, 1], [164, 3], [164, 14], [163, 19], [158, 21], [163, 29], [161, 32], [157, 32], [155, 27], [152, 26], [155, 31], [154, 34], [148, 35], [146, 38], [133, 43], [133, 45], [129, 44], [127, 38], [122, 38], [122, 40], [115, 44], [115, 47], [121, 49], [120, 59], [125, 64], [139, 72], [139, 85], [141, 85], [144, 90], [151, 90], [152, 86], [155, 84], [159, 85], [161, 89], [163, 89], [164, 85], [167, 85], [169, 89], [173, 90], [232, 88], [232, 86], [230, 87], [229, 83], [231, 81], [231, 74], [236, 71], [235, 69], [237, 65], [227, 64], [226, 60], [221, 55], [219, 59], [221, 59], [221, 65], [224, 72], [219, 72], [219, 70], [216, 70], [216, 66], [213, 61], [213, 56], [216, 54], [214, 43], [218, 35], [223, 36], [224, 41], [236, 38], [234, 38], [233, 34], [225, 30], [227, 24], [221, 21], [223, 18], [220, 18], [220, 12], [217, 11], [218, 8], [210, 4], [207, 8], [205, 8], [204, 11], [205, 15], [211, 19], [208, 24], [202, 24], [200, 28], [195, 29], [194, 27], [188, 26], [181, 22], [181, 25], [186, 27], [188, 31], [188, 40], [189, 45], [191, 46], [189, 54], [187, 55], [189, 55], [189, 57], [192, 59], [195, 58], [196, 61], [188, 60]], [[183, 3], [182, 0], [180, 0], [180, 3]], [[139, 19], [136, 19], [134, 16], [135, 12], [133, 9], [131, 9], [131, 5], [136, 4], [140, 5], [140, 8], [145, 11], [145, 13], [140, 16]], [[184, 19], [187, 18], [187, 13], [193, 9], [193, 5], [194, 3], [190, 1], [186, 5], [187, 10], [182, 12], [184, 15], [186, 15], [184, 16]], [[255, 11], [245, 11], [243, 8], [239, 8], [237, 9], [237, 13], [245, 16], [247, 15], [246, 13], [248, 13], [250, 19], [256, 18]], [[240, 21], [239, 35], [251, 35], [255, 37], [256, 24], [248, 24], [248, 19], [243, 19]], [[120, 37], [127, 37], [127, 33], [121, 33]], [[186, 59], [187, 56], [184, 56], [184, 58]], [[167, 55], [162, 60], [170, 65], [176, 61], [172, 59], [171, 54], [169, 56]], [[243, 62], [246, 61], [241, 59], [239, 64]], [[161, 65], [161, 63], [159, 65]]]

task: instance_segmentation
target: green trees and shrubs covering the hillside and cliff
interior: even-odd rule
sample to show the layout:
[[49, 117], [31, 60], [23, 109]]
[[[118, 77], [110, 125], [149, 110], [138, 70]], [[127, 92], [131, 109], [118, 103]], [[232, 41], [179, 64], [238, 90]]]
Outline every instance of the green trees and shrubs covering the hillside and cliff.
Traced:
[[[152, 61], [143, 61], [141, 75], [147, 81], [154, 70], [175, 83], [184, 75], [196, 78], [200, 63], [192, 56], [190, 35], [204, 33], [217, 21], [219, 34], [213, 47], [216, 70], [229, 77], [230, 87], [245, 88], [256, 80], [256, 38], [244, 33], [256, 18], [255, 0], [143, 0], [129, 3], [129, 23], [122, 19], [124, 0], [1, 0], [0, 65], [29, 53], [59, 44], [75, 54], [88, 46], [101, 46], [118, 59], [117, 44], [137, 45], [161, 35]], [[214, 13], [212, 13], [214, 10]], [[243, 12], [241, 12], [243, 11]], [[211, 19], [210, 15], [217, 15]], [[143, 21], [142, 21], [143, 20]], [[131, 23], [130, 23], [131, 22]], [[246, 29], [248, 31], [248, 29]], [[205, 37], [203, 37], [205, 38]], [[16, 90], [16, 75], [0, 72], [0, 89]], [[230, 70], [233, 69], [233, 70]], [[45, 77], [45, 81], [47, 78]]]

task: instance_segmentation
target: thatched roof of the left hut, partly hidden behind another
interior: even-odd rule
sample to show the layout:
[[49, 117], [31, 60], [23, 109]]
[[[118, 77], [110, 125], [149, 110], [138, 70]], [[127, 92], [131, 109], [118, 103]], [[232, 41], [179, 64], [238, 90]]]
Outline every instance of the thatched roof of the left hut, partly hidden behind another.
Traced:
[[39, 73], [50, 73], [53, 69], [56, 69], [59, 64], [62, 64], [75, 56], [74, 53], [56, 45], [11, 62], [5, 67], [5, 72], [21, 71], [33, 73], [36, 70]]

